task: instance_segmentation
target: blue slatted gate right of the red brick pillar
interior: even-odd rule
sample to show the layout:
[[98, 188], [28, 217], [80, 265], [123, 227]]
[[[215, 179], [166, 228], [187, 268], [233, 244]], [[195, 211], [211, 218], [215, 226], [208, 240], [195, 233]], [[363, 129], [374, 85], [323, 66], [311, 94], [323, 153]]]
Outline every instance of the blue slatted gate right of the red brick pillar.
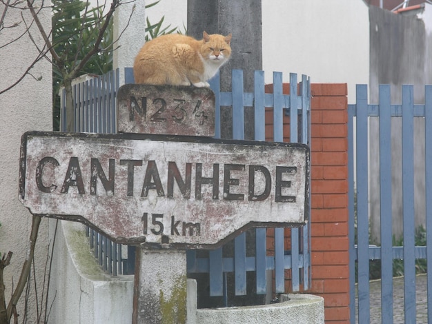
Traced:
[[[415, 260], [427, 259], [432, 269], [432, 249], [415, 246], [414, 223], [414, 128], [415, 118], [424, 120], [426, 172], [426, 240], [432, 240], [432, 86], [426, 85], [425, 104], [415, 105], [413, 86], [402, 86], [402, 105], [391, 104], [390, 85], [380, 85], [379, 104], [368, 104], [367, 86], [357, 85], [355, 105], [348, 105], [349, 145], [349, 210], [350, 210], [350, 283], [351, 323], [370, 323], [369, 260], [381, 260], [382, 323], [393, 323], [393, 312], [399, 312], [393, 305], [393, 260], [404, 263], [404, 323], [416, 323]], [[355, 118], [354, 118], [355, 117]], [[379, 117], [380, 152], [369, 150], [369, 117]], [[392, 233], [392, 148], [391, 120], [402, 118], [402, 199], [403, 199], [403, 247], [393, 247]], [[354, 128], [355, 125], [355, 128]], [[354, 145], [355, 148], [354, 151]], [[369, 155], [380, 156], [380, 238], [381, 246], [370, 245], [369, 241]], [[355, 162], [355, 163], [354, 163]], [[355, 168], [355, 170], [354, 170]], [[417, 171], [418, 172], [418, 171]], [[357, 174], [355, 179], [355, 174]], [[355, 204], [355, 194], [357, 203]], [[393, 197], [394, 199], [394, 197]], [[356, 208], [355, 208], [356, 207]], [[356, 234], [355, 234], [356, 233]], [[355, 244], [357, 242], [357, 244]], [[357, 263], [357, 299], [355, 304], [355, 264]], [[427, 280], [428, 317], [432, 318], [432, 278]], [[356, 308], [357, 307], [357, 308]], [[421, 305], [426, 307], [426, 305]], [[431, 321], [431, 319], [429, 319]]]

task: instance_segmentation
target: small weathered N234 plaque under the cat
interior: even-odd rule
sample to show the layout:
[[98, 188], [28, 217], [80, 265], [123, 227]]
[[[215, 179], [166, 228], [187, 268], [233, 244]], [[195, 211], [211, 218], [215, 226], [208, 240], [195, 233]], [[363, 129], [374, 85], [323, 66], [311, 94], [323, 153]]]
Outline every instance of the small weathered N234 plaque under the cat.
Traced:
[[122, 85], [117, 115], [121, 133], [215, 136], [215, 94], [208, 88]]

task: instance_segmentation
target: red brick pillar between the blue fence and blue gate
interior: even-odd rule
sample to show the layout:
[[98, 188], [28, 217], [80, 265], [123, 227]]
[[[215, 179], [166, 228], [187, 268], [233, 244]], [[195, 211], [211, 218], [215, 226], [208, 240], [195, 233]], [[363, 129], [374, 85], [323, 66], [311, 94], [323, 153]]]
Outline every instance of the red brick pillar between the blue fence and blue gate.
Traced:
[[[266, 92], [273, 92], [272, 85], [266, 86]], [[284, 93], [289, 94], [288, 84], [284, 84]], [[312, 287], [309, 292], [324, 297], [326, 323], [349, 323], [347, 87], [346, 84], [312, 84], [311, 94]], [[268, 110], [266, 137], [270, 141], [272, 121], [273, 113]], [[288, 117], [284, 117], [284, 124], [284, 138], [288, 139]]]

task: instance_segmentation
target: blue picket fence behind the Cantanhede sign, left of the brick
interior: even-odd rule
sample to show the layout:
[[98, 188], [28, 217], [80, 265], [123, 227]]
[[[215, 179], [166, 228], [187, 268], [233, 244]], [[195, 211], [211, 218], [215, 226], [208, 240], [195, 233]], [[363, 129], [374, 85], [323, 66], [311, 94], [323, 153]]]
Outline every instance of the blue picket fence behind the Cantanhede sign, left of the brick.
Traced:
[[[119, 71], [112, 71], [104, 77], [97, 77], [74, 87], [75, 116], [79, 132], [116, 132], [115, 98], [119, 88]], [[131, 68], [125, 69], [126, 83], [133, 83]], [[254, 92], [244, 92], [243, 71], [233, 70], [231, 92], [221, 92], [219, 76], [210, 80], [215, 92], [215, 137], [221, 137], [220, 107], [230, 106], [233, 110], [233, 138], [244, 139], [244, 107], [255, 110], [255, 140], [265, 141], [265, 110], [273, 108], [273, 141], [284, 141], [283, 116], [290, 115], [290, 138], [293, 142], [309, 143], [311, 89], [310, 81], [302, 76], [300, 93], [297, 93], [297, 74], [290, 74], [291, 94], [282, 94], [282, 73], [273, 72], [273, 94], [264, 91], [264, 72], [255, 71]], [[61, 101], [64, 103], [64, 99]], [[293, 108], [293, 109], [291, 109]], [[62, 116], [66, 116], [64, 104]], [[66, 120], [62, 117], [64, 129]], [[310, 214], [310, 213], [309, 213]], [[187, 252], [188, 274], [210, 274], [210, 296], [226, 296], [226, 273], [235, 274], [235, 294], [246, 294], [246, 272], [256, 274], [257, 294], [266, 294], [267, 270], [273, 270], [274, 293], [286, 292], [286, 271], [291, 270], [291, 291], [308, 290], [311, 283], [311, 235], [310, 223], [301, 228], [292, 228], [290, 248], [285, 246], [284, 229], [275, 229], [274, 252], [268, 253], [267, 229], [255, 231], [255, 256], [246, 256], [246, 234], [235, 238], [234, 257], [224, 257], [222, 247], [210, 250], [208, 258], [197, 257], [197, 251]], [[99, 264], [111, 274], [128, 274], [135, 256], [128, 247], [128, 258], [123, 245], [116, 245], [97, 232], [89, 231], [90, 245], [95, 250]], [[272, 247], [273, 248], [273, 247]], [[115, 258], [113, 257], [115, 252]]]

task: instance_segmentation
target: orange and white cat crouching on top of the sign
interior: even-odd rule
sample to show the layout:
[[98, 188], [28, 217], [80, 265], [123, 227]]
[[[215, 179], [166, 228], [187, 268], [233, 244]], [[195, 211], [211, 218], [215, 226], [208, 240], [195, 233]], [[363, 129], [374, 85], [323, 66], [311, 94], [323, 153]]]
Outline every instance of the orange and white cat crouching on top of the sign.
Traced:
[[135, 83], [208, 87], [207, 80], [230, 57], [231, 37], [204, 32], [201, 41], [181, 34], [148, 41], [135, 58]]

